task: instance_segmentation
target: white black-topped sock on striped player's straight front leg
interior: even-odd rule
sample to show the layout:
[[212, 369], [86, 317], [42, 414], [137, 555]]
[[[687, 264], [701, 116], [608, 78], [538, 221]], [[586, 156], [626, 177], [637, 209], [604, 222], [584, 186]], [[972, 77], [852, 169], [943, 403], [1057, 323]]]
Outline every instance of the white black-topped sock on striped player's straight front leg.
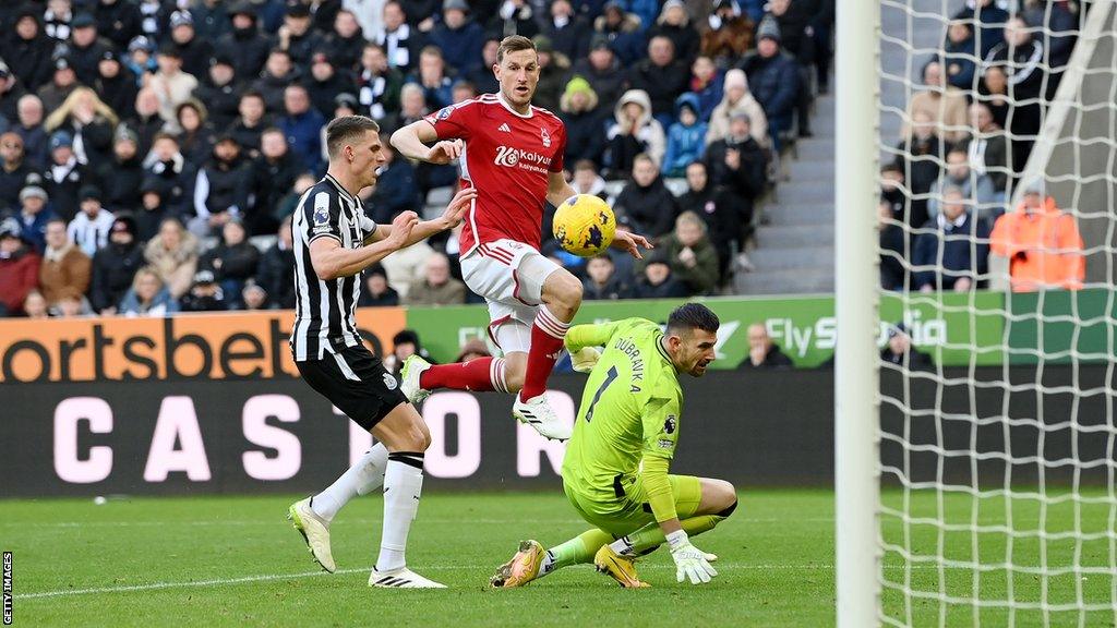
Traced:
[[419, 512], [422, 494], [421, 451], [392, 451], [384, 473], [384, 531], [380, 540], [376, 571], [393, 571], [407, 564], [408, 531]]

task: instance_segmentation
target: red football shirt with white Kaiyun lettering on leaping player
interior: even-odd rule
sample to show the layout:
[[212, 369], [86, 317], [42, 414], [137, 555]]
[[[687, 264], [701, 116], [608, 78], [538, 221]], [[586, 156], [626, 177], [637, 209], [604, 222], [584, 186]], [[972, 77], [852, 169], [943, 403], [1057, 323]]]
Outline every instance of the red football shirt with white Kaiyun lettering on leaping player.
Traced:
[[428, 115], [440, 140], [460, 139], [461, 187], [476, 188], [466, 212], [461, 255], [508, 238], [540, 248], [547, 175], [562, 172], [566, 127], [558, 116], [532, 106], [522, 115], [485, 94]]

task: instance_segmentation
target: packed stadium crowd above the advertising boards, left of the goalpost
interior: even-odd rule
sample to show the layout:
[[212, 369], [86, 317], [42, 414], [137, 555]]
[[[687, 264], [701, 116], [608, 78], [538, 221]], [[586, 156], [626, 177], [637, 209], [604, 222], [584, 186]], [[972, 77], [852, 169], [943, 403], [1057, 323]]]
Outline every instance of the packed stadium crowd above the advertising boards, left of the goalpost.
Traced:
[[[293, 306], [289, 216], [326, 122], [386, 136], [495, 92], [513, 34], [538, 48], [574, 187], [659, 244], [638, 264], [545, 253], [588, 298], [717, 293], [773, 161], [810, 134], [832, 22], [833, 0], [3, 2], [0, 315]], [[388, 152], [378, 221], [457, 182]], [[390, 257], [362, 304], [477, 301], [458, 253], [447, 234]]]

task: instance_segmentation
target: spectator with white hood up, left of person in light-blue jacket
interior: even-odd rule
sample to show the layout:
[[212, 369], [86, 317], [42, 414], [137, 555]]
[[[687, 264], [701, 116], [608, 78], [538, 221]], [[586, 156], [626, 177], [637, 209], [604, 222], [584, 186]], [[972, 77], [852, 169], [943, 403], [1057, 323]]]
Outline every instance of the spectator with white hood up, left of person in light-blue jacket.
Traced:
[[667, 150], [663, 127], [651, 116], [651, 101], [647, 92], [629, 89], [613, 108], [615, 122], [609, 127], [609, 164], [611, 177], [622, 179], [632, 171], [636, 156], [645, 153], [657, 164]]

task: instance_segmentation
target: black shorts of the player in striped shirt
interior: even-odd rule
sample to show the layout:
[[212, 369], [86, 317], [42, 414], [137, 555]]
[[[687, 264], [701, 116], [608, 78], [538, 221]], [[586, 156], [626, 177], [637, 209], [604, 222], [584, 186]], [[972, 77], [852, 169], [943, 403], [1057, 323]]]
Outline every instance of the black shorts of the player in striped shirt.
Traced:
[[408, 398], [395, 378], [363, 344], [325, 353], [322, 360], [295, 362], [306, 383], [345, 416], [370, 430]]

